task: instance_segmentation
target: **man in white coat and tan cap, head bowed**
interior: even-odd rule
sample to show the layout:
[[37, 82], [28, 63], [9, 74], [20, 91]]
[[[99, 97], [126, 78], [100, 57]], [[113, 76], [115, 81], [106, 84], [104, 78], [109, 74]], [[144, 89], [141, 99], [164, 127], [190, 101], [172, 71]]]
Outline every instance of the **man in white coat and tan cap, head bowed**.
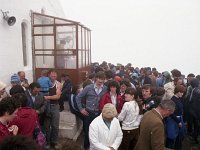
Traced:
[[90, 150], [117, 150], [122, 141], [122, 130], [117, 110], [111, 103], [104, 105], [102, 113], [89, 127]]

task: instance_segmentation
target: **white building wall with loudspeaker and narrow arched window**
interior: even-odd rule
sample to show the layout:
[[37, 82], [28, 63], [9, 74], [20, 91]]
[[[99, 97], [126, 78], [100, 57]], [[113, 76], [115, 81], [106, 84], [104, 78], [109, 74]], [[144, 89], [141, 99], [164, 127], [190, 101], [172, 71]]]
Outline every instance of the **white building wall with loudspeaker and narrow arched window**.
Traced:
[[[18, 71], [25, 71], [29, 82], [32, 82], [32, 36], [31, 10], [65, 18], [58, 0], [0, 0], [0, 10], [9, 11], [8, 16], [15, 16], [16, 23], [9, 26], [0, 13], [0, 80], [10, 84], [10, 76]], [[27, 24], [28, 66], [23, 65], [21, 23]]]

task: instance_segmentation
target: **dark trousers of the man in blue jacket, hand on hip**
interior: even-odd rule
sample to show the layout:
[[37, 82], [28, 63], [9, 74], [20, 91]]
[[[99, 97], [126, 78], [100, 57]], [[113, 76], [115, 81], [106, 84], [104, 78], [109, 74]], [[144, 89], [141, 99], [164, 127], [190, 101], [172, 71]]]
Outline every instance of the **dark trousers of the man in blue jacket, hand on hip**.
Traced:
[[84, 138], [84, 148], [89, 148], [90, 147], [90, 141], [89, 141], [89, 126], [90, 123], [97, 117], [99, 116], [99, 112], [98, 113], [93, 113], [93, 112], [89, 112], [89, 116], [85, 116], [83, 119], [83, 130], [85, 132], [85, 138]]

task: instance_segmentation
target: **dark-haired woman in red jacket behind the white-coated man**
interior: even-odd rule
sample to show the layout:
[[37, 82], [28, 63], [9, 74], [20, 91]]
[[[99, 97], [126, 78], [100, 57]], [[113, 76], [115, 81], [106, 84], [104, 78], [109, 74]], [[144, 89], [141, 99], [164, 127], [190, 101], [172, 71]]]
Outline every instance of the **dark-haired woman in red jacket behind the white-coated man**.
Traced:
[[123, 101], [120, 95], [120, 87], [116, 81], [110, 81], [108, 83], [108, 92], [105, 93], [100, 99], [100, 110], [102, 111], [103, 106], [107, 103], [115, 105], [117, 112], [120, 113]]

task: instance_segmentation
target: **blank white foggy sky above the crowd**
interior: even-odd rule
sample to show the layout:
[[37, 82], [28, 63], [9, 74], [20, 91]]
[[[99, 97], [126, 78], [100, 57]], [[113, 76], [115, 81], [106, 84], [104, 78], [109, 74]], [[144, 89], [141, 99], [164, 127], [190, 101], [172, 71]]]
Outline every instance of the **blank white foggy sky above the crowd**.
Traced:
[[199, 0], [60, 0], [92, 30], [92, 61], [200, 74]]

